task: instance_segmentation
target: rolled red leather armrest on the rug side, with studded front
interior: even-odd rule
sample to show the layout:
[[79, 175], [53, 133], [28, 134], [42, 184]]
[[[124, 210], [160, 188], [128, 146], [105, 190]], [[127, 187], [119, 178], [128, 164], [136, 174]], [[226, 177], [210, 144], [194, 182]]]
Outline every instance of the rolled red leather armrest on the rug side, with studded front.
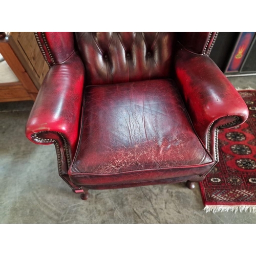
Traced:
[[175, 73], [195, 130], [218, 161], [218, 130], [246, 121], [248, 108], [209, 57], [181, 48], [176, 56]]

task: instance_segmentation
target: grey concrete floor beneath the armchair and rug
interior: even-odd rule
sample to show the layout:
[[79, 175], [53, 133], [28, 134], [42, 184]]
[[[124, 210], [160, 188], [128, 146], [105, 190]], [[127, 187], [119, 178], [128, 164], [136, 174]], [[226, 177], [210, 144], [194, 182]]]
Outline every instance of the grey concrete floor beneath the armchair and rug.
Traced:
[[[256, 89], [256, 76], [230, 80]], [[54, 146], [25, 137], [32, 104], [0, 104], [1, 223], [256, 223], [249, 212], [206, 214], [199, 186], [184, 183], [91, 190], [82, 201], [58, 176]]]

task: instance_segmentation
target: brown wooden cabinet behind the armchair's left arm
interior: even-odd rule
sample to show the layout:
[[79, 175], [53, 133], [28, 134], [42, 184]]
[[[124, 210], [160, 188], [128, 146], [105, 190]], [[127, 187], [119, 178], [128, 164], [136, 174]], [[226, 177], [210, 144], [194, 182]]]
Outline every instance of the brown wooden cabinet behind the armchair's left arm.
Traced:
[[0, 32], [0, 102], [35, 100], [49, 67], [33, 32]]

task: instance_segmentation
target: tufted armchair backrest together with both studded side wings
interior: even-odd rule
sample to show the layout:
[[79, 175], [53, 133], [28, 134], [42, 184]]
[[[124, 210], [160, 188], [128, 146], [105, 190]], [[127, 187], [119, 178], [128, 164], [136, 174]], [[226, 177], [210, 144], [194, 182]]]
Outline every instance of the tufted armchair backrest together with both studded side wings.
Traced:
[[35, 32], [35, 36], [50, 67], [67, 63], [78, 50], [86, 83], [100, 85], [170, 78], [178, 42], [190, 52], [208, 56], [217, 33]]

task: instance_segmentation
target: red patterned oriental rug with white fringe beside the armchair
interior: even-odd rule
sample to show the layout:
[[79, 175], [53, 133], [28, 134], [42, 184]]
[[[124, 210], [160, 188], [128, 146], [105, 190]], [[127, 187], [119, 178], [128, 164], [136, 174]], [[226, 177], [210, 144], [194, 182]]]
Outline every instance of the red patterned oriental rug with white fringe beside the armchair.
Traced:
[[219, 131], [219, 163], [200, 182], [206, 212], [256, 212], [256, 90], [241, 90], [249, 118]]

